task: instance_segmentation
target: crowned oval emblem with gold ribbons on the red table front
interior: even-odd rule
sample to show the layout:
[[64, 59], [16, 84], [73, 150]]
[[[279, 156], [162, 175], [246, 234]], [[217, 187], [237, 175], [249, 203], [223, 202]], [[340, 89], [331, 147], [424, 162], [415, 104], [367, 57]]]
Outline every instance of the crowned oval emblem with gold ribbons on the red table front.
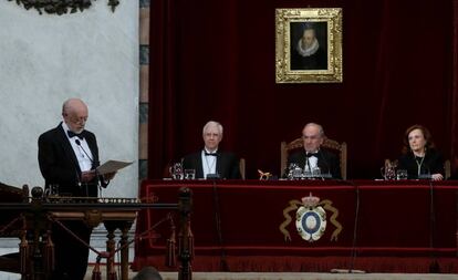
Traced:
[[337, 241], [339, 234], [342, 231], [342, 225], [337, 221], [339, 210], [332, 206], [332, 201], [329, 199], [320, 201], [319, 197], [310, 194], [306, 197], [302, 197], [300, 200], [290, 200], [289, 206], [283, 209], [284, 221], [280, 225], [279, 229], [284, 236], [285, 241], [291, 241], [291, 235], [287, 227], [292, 221], [290, 211], [295, 211], [295, 228], [299, 236], [309, 241], [318, 241], [326, 230], [326, 210], [332, 212], [330, 221], [335, 227], [331, 235], [331, 241]]

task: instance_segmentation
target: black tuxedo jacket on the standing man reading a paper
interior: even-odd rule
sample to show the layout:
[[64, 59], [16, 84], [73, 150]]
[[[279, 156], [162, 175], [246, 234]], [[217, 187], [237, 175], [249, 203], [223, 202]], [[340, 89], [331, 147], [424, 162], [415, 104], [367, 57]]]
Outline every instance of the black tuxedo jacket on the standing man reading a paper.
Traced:
[[[95, 135], [89, 131], [83, 131], [82, 135], [92, 153], [91, 169], [95, 169], [100, 165]], [[71, 141], [74, 141], [74, 138], [71, 138]], [[98, 182], [103, 187], [106, 187], [107, 184], [97, 176], [92, 182], [81, 182], [80, 165], [62, 123], [40, 135], [38, 145], [40, 170], [44, 177], [45, 186], [56, 184], [60, 194], [90, 197], [97, 196]]]

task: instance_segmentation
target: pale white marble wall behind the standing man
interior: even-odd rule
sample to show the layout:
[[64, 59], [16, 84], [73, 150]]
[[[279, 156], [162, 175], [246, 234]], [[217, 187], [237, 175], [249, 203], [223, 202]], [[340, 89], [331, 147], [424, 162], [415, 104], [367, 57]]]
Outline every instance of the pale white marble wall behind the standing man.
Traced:
[[61, 121], [62, 102], [81, 97], [101, 163], [134, 162], [104, 196], [136, 197], [138, 185], [138, 1], [107, 0], [52, 15], [0, 1], [0, 182], [43, 186], [39, 135]]

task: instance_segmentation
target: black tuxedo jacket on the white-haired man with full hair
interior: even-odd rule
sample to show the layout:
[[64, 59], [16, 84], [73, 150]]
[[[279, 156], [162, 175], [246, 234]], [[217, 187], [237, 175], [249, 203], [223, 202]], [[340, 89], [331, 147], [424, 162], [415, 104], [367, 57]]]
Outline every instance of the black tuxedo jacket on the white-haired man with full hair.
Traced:
[[[183, 169], [195, 169], [196, 179], [204, 178], [201, 151], [183, 158]], [[239, 159], [229, 152], [217, 152], [216, 172], [221, 179], [241, 179]]]

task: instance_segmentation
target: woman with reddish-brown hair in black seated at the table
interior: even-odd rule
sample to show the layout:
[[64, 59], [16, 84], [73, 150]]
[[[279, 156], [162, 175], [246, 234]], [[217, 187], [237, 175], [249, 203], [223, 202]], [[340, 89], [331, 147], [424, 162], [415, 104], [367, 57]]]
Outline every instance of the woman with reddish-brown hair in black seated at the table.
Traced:
[[406, 169], [409, 179], [444, 179], [443, 155], [435, 149], [431, 134], [425, 126], [413, 125], [407, 128], [397, 168]]

